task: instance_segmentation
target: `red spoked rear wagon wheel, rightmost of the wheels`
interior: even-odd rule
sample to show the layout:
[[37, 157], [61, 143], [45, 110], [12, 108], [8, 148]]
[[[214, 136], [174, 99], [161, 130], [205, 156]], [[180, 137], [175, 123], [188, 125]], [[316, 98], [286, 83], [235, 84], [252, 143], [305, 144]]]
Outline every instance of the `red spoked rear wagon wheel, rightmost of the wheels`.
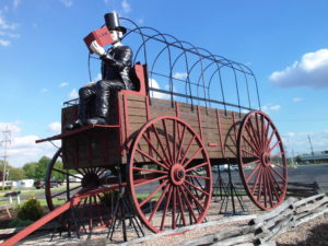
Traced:
[[245, 189], [257, 207], [270, 210], [285, 197], [288, 169], [281, 138], [262, 112], [249, 113], [238, 134], [238, 164]]

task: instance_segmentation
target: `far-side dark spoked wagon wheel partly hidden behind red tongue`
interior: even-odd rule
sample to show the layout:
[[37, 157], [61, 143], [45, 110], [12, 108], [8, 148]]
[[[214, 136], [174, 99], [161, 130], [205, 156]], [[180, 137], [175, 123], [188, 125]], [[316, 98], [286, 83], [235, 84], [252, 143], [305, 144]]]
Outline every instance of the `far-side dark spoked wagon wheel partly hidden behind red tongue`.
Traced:
[[[60, 148], [48, 164], [46, 173], [46, 200], [50, 211], [67, 202], [78, 192], [104, 187], [108, 184], [106, 171], [102, 167], [78, 168], [68, 171], [62, 168], [62, 149]], [[66, 185], [67, 176], [69, 185]], [[59, 187], [58, 187], [59, 186]], [[75, 207], [79, 223], [85, 230], [104, 227], [110, 222], [110, 208], [115, 192], [92, 195], [82, 199]]]

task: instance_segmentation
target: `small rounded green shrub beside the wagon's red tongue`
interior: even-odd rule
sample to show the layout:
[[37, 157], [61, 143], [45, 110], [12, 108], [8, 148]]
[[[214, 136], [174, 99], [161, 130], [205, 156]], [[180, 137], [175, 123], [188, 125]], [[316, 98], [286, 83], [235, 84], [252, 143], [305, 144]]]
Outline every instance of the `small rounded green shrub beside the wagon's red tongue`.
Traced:
[[31, 197], [19, 210], [17, 218], [21, 220], [37, 221], [44, 215], [44, 209], [35, 197]]

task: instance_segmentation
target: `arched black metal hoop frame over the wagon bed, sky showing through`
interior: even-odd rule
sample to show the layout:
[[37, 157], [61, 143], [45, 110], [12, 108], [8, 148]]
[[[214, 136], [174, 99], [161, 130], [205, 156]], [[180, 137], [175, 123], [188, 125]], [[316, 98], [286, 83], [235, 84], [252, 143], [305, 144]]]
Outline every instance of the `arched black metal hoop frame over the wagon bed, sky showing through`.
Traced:
[[[194, 105], [199, 105], [202, 103], [206, 107], [212, 107], [211, 104], [214, 104], [214, 107], [220, 107], [220, 105], [222, 105], [225, 112], [227, 107], [237, 108], [239, 113], [242, 113], [242, 110], [243, 113], [245, 113], [245, 110], [247, 112], [261, 109], [258, 83], [254, 72], [247, 66], [232, 61], [222, 56], [213, 55], [204, 48], [196, 47], [195, 45], [185, 40], [179, 40], [175, 36], [161, 33], [153, 27], [139, 26], [137, 23], [129, 19], [120, 17], [120, 21], [125, 23], [124, 26], [126, 26], [128, 31], [122, 39], [128, 39], [131, 36], [136, 37], [136, 35], [133, 34], [140, 36], [140, 42], [136, 46], [137, 49], [134, 49], [136, 54], [133, 58], [133, 65], [136, 65], [137, 62], [141, 62], [148, 65], [148, 67], [150, 68], [148, 74], [149, 84], [147, 86], [150, 95], [151, 92], [168, 95], [169, 99], [172, 101], [172, 105], [174, 105], [174, 99], [179, 101], [183, 98], [186, 103], [191, 104], [192, 108]], [[151, 42], [156, 43], [156, 46], [159, 48], [156, 52], [148, 50], [148, 46]], [[161, 45], [164, 45], [164, 47], [160, 48]], [[173, 49], [177, 49], [178, 52], [173, 52]], [[167, 51], [166, 66], [168, 66], [168, 72], [166, 74], [163, 73], [163, 70], [155, 71], [159, 60], [161, 56], [165, 54], [165, 51]], [[89, 69], [90, 58], [98, 59], [97, 57], [89, 56]], [[196, 61], [190, 62], [192, 59], [189, 58], [192, 58]], [[180, 59], [184, 59], [185, 63], [185, 79], [175, 78], [173, 73], [177, 62]], [[224, 69], [229, 69], [232, 72], [232, 77], [229, 80], [222, 78]], [[90, 70], [89, 72], [91, 73]], [[194, 81], [190, 78], [190, 74], [192, 72], [198, 74], [196, 81], [195, 78], [192, 78]], [[154, 77], [162, 77], [167, 79], [166, 87], [168, 89], [157, 89], [152, 86], [151, 81]], [[215, 84], [215, 77], [218, 77], [218, 81], [215, 82], [219, 83], [219, 92], [211, 90], [213, 84]], [[243, 78], [243, 81], [241, 81], [241, 78]], [[237, 103], [226, 101], [227, 92], [224, 90], [224, 86], [227, 86], [227, 84], [231, 82], [233, 82], [235, 86]], [[254, 96], [250, 96], [250, 82], [253, 82], [253, 85], [255, 86], [255, 101], [257, 102], [253, 102]], [[175, 91], [174, 85], [176, 83], [184, 84], [185, 93]], [[245, 92], [241, 91], [241, 86], [243, 85], [243, 83], [246, 86]], [[196, 91], [196, 93], [194, 91]], [[211, 92], [216, 94], [219, 93], [221, 98], [216, 99], [213, 98], [213, 96], [211, 97]], [[229, 95], [231, 95], [230, 92]], [[242, 105], [241, 98], [246, 98], [247, 105]], [[78, 101], [68, 101], [65, 103], [65, 105], [71, 106], [77, 103]]]

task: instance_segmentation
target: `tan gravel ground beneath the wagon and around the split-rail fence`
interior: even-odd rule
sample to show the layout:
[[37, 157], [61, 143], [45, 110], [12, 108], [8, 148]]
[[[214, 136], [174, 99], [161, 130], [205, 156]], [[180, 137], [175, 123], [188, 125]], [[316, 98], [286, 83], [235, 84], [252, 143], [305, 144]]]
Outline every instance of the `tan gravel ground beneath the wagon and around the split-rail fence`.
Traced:
[[[230, 220], [230, 218], [235, 216], [226, 216], [222, 214], [218, 214], [219, 211], [219, 203], [220, 202], [213, 202], [210, 207], [209, 214], [207, 216], [208, 222], [210, 221], [222, 221], [222, 220]], [[263, 213], [262, 211], [258, 210], [253, 206], [251, 202], [247, 201], [247, 207], [249, 209], [248, 214], [260, 214]], [[227, 227], [234, 226], [234, 225], [243, 225], [247, 224], [248, 220], [239, 221], [239, 222], [230, 222], [224, 223], [223, 225], [211, 225], [203, 229], [192, 230], [185, 233], [180, 233], [177, 235], [166, 235], [166, 236], [160, 236], [154, 239], [150, 239], [144, 243], [136, 244], [138, 246], [168, 246], [168, 245], [178, 245], [179, 243], [191, 239], [195, 237], [204, 236], [208, 234], [222, 232], [226, 230]], [[144, 230], [147, 235], [151, 235], [152, 233]], [[72, 237], [68, 238], [67, 233], [63, 233], [62, 236], [59, 236], [59, 233], [55, 233], [54, 239], [50, 242], [51, 232], [36, 232], [35, 234], [28, 236], [23, 242], [19, 243], [17, 245], [65, 245], [65, 246], [87, 246], [87, 245], [97, 245], [97, 246], [105, 246], [105, 245], [118, 245], [122, 243], [122, 235], [119, 230], [116, 231], [114, 234], [114, 242], [109, 242], [107, 236], [108, 230], [99, 230], [92, 234], [92, 236], [82, 235], [81, 238], [77, 238], [77, 235], [73, 234]], [[129, 231], [128, 239], [134, 239], [137, 238], [136, 233]], [[292, 229], [288, 231], [286, 233], [283, 233], [276, 238], [273, 238], [277, 242], [278, 246], [303, 246], [303, 245], [327, 245], [328, 246], [328, 213], [318, 216], [307, 223], [304, 223], [300, 225], [296, 229]], [[0, 242], [1, 243], [1, 242]]]

